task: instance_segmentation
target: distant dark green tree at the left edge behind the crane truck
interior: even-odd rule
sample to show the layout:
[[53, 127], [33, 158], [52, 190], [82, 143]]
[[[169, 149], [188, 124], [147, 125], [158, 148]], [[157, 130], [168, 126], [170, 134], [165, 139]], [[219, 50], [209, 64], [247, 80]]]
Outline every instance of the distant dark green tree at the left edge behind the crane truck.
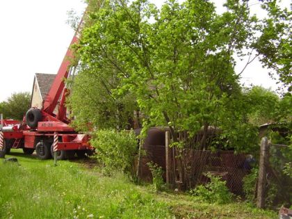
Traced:
[[31, 105], [29, 92], [13, 93], [6, 102], [0, 103], [0, 113], [7, 119], [22, 120]]

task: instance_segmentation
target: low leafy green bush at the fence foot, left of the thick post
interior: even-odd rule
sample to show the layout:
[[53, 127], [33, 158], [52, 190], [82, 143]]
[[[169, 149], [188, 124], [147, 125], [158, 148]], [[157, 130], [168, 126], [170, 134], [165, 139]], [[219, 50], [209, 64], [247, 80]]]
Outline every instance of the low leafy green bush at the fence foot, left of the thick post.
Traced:
[[233, 195], [229, 192], [226, 181], [222, 181], [221, 177], [214, 177], [210, 173], [207, 173], [206, 177], [211, 180], [209, 184], [197, 186], [190, 190], [190, 193], [209, 203], [228, 204], [232, 202]]

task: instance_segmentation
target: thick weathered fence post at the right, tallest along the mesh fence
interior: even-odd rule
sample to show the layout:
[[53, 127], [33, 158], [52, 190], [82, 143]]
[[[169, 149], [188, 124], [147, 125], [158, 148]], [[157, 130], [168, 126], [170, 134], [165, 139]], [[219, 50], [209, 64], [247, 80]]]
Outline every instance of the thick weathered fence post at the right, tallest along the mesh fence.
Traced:
[[268, 163], [268, 138], [261, 138], [261, 154], [259, 156], [259, 182], [257, 186], [257, 207], [265, 207], [266, 165]]

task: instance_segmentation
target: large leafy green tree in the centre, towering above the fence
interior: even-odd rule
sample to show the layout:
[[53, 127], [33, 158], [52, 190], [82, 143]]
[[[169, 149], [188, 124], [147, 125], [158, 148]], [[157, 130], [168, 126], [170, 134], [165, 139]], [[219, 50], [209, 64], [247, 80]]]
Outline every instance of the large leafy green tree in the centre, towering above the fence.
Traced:
[[[98, 100], [92, 105], [92, 112], [102, 103], [101, 97], [131, 97], [122, 106], [127, 106], [129, 99], [133, 100], [130, 106], [136, 102], [143, 112], [145, 129], [168, 126], [172, 138], [186, 147], [194, 143], [206, 147], [210, 127], [220, 127], [222, 138], [228, 138], [238, 149], [254, 145], [256, 129], [248, 123], [248, 101], [234, 72], [233, 57], [252, 56], [254, 50], [255, 56], [268, 57], [266, 50], [261, 50], [261, 40], [269, 35], [259, 34], [268, 20], [251, 16], [248, 1], [226, 1], [228, 10], [222, 15], [216, 13], [213, 3], [203, 0], [181, 4], [166, 1], [161, 10], [146, 0], [90, 3], [98, 7], [89, 10], [80, 44], [76, 46], [81, 60], [76, 79], [92, 83], [86, 86], [86, 94]], [[266, 1], [262, 4], [270, 10]], [[279, 12], [277, 17], [280, 16]], [[285, 30], [277, 29], [282, 32], [275, 35]], [[248, 52], [243, 53], [245, 50]], [[101, 79], [96, 78], [107, 79], [106, 83], [113, 86], [100, 86]], [[81, 115], [86, 109], [81, 104], [74, 106], [74, 98], [86, 95], [73, 87], [76, 97], [70, 104], [77, 120], [82, 120], [88, 113]], [[111, 95], [99, 97], [99, 88], [108, 88]], [[108, 108], [117, 111], [117, 105]], [[99, 115], [92, 114], [90, 120]], [[202, 136], [196, 140], [199, 131]]]

